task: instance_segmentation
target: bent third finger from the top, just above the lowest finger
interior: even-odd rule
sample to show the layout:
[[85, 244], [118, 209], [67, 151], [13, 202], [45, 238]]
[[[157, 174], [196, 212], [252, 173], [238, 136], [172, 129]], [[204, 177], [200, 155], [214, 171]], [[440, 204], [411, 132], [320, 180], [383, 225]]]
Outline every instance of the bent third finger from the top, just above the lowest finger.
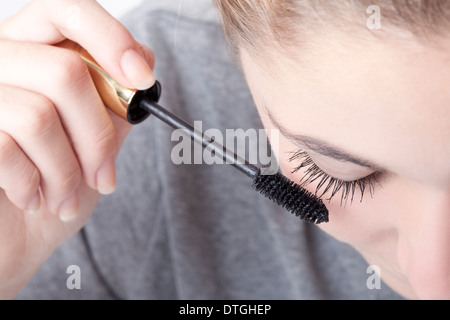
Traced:
[[[9, 174], [13, 174], [3, 174], [5, 189], [10, 190], [8, 195], [14, 198], [18, 194], [18, 198], [29, 199], [30, 194], [36, 192], [36, 173], [23, 153], [39, 172], [40, 186], [49, 209], [59, 214], [71, 210], [71, 215], [75, 215], [75, 206], [66, 208], [63, 204], [76, 193], [82, 179], [81, 169], [53, 104], [41, 95], [0, 85], [0, 128], [17, 144], [4, 134], [2, 168], [6, 171], [11, 168]], [[17, 161], [17, 166], [13, 161]], [[25, 182], [28, 176], [32, 181], [30, 186], [23, 187], [19, 180], [11, 180], [15, 173]], [[17, 185], [13, 187], [15, 183]], [[22, 187], [26, 191], [24, 195], [20, 194]], [[22, 207], [23, 202], [20, 205]]]

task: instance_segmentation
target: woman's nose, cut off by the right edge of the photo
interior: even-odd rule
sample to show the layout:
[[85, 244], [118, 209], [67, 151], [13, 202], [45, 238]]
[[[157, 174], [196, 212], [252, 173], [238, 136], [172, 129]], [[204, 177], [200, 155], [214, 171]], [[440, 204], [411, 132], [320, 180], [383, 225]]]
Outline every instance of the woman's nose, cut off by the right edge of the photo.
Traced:
[[398, 259], [420, 299], [450, 299], [450, 190], [415, 190], [399, 228]]

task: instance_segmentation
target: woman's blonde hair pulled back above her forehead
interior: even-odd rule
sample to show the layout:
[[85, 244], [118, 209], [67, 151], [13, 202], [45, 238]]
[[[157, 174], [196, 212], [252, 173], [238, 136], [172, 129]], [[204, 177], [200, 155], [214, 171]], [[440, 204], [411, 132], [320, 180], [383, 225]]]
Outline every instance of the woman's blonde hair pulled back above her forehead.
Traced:
[[221, 13], [225, 35], [233, 54], [245, 48], [255, 55], [267, 46], [294, 48], [323, 35], [330, 27], [354, 35], [367, 28], [368, 7], [381, 10], [379, 35], [431, 39], [448, 34], [448, 0], [214, 0]]

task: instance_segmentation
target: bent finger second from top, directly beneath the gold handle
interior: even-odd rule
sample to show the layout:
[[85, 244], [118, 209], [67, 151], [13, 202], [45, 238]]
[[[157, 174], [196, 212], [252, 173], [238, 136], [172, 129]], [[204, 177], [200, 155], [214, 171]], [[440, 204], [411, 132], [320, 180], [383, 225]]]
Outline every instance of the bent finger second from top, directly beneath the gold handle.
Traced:
[[118, 151], [117, 135], [83, 60], [65, 49], [4, 40], [0, 52], [0, 83], [48, 97], [73, 144], [86, 183], [111, 193], [115, 184], [110, 160]]

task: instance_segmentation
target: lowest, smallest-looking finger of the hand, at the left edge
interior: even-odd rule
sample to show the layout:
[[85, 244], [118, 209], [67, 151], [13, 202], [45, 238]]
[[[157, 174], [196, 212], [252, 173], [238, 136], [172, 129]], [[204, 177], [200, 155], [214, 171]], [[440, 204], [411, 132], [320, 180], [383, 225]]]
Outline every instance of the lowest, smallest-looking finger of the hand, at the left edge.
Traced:
[[14, 139], [0, 131], [0, 188], [18, 208], [30, 213], [40, 208], [40, 175]]

